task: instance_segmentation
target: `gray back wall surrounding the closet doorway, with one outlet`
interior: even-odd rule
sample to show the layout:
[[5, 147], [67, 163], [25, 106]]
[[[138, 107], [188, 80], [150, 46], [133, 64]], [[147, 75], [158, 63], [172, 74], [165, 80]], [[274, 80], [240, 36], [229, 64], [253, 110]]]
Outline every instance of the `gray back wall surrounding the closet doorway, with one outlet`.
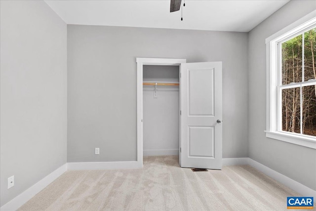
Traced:
[[222, 61], [223, 157], [248, 157], [247, 33], [68, 25], [68, 162], [136, 160], [136, 57]]

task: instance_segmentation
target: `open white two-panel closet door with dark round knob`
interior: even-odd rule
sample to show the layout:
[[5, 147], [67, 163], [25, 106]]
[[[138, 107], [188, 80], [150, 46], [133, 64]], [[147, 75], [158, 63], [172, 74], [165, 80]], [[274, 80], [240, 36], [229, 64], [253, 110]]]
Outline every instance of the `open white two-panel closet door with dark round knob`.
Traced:
[[222, 169], [222, 62], [181, 64], [181, 167]]

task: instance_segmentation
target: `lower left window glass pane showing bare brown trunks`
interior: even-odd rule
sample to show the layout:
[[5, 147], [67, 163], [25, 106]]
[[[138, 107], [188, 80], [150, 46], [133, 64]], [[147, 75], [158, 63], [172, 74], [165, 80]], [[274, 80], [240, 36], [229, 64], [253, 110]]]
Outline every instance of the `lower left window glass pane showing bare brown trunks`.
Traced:
[[300, 88], [282, 90], [282, 131], [301, 133]]

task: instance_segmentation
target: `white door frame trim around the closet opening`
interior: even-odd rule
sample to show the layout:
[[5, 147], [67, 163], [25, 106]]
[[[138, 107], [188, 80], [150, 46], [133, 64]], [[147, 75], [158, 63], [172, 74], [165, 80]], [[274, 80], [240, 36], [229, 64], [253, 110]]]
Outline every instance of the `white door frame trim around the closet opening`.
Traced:
[[136, 58], [137, 63], [137, 166], [143, 167], [143, 65], [180, 66], [186, 59]]

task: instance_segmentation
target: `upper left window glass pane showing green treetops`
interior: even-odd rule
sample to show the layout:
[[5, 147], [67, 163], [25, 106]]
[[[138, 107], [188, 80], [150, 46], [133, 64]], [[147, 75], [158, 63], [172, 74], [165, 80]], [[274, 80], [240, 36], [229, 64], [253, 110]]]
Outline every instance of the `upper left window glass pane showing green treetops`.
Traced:
[[282, 43], [282, 84], [302, 81], [302, 35]]

